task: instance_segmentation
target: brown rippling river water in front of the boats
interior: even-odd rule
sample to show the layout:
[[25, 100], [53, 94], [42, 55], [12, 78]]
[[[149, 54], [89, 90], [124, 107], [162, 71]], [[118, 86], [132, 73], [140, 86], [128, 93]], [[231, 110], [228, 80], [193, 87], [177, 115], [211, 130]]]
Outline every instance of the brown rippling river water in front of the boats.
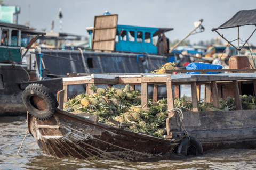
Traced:
[[0, 169], [256, 169], [256, 149], [212, 150], [201, 157], [168, 156], [146, 162], [55, 159], [45, 156], [27, 131], [26, 117], [0, 117]]

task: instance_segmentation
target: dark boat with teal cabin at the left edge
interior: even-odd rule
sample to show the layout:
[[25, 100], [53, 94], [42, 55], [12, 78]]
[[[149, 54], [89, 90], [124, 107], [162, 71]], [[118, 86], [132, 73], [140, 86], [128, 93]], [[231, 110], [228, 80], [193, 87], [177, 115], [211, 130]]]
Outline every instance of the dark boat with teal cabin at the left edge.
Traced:
[[[21, 46], [24, 45], [21, 36], [38, 37], [44, 35], [44, 32], [31, 31], [24, 25], [4, 22], [0, 22], [0, 28], [0, 36], [4, 37], [0, 42], [0, 116], [25, 115], [26, 107], [21, 94], [28, 84], [44, 84], [57, 93], [58, 89], [62, 89], [62, 79], [39, 80], [35, 70], [28, 69], [28, 66], [21, 61]], [[32, 44], [33, 41], [30, 41], [27, 51]]]

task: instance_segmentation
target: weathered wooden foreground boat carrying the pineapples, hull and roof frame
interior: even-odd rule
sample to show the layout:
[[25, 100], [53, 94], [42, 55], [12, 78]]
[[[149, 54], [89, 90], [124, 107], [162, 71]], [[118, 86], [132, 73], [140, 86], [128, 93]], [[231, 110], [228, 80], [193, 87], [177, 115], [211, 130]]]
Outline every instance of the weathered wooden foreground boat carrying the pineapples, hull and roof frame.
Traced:
[[[94, 76], [63, 78], [63, 84], [64, 81], [69, 84], [83, 82], [89, 83], [88, 87], [90, 87], [90, 83], [97, 82], [108, 83], [109, 86], [122, 84], [122, 82], [124, 84], [140, 83], [142, 105], [148, 102], [147, 92], [143, 93], [143, 91], [149, 84], [157, 84], [155, 86], [166, 84], [170, 112], [169, 118], [166, 120], [167, 135], [165, 139], [124, 130], [122, 123], [116, 126], [100, 123], [97, 116], [92, 116], [89, 113], [74, 114], [59, 108], [52, 110], [47, 104], [49, 99], [44, 99], [44, 95], [40, 94], [40, 90], [38, 90], [38, 92], [34, 91], [33, 95], [28, 94], [30, 97], [25, 95], [23, 101], [26, 106], [30, 105], [28, 111], [31, 114], [27, 115], [29, 132], [46, 155], [56, 158], [137, 160], [170, 152], [187, 155], [191, 151], [195, 155], [200, 155], [203, 154], [203, 151], [211, 149], [256, 148], [255, 111], [243, 111], [238, 95], [238, 82], [253, 81], [254, 87], [256, 87], [255, 73], [140, 74], [105, 75], [105, 77], [102, 74], [96, 74]], [[199, 112], [197, 84], [211, 85], [212, 102], [218, 108], [217, 84], [227, 83], [227, 81], [233, 83], [237, 110]], [[180, 84], [191, 84], [193, 112], [180, 113], [174, 108], [172, 86], [180, 86]], [[31, 91], [29, 86], [25, 89], [25, 93], [26, 91]], [[31, 99], [31, 96], [41, 98], [33, 97]], [[154, 96], [157, 96], [157, 90], [155, 90]], [[154, 98], [154, 101], [157, 101], [157, 98]], [[52, 106], [53, 103], [52, 100]], [[45, 111], [47, 111], [47, 115], [40, 117]], [[38, 117], [38, 115], [40, 116]]]

